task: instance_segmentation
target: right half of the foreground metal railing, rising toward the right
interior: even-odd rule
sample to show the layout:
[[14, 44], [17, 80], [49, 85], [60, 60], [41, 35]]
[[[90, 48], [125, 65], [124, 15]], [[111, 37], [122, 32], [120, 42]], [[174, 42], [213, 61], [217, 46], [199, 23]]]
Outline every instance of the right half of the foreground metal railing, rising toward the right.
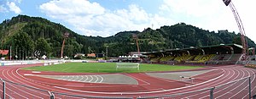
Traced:
[[140, 96], [137, 99], [148, 99], [148, 98], [160, 98], [160, 99], [181, 99], [181, 98], [236, 98], [236, 99], [256, 99], [256, 83], [252, 78], [256, 75], [241, 78], [239, 80], [233, 80], [223, 85], [218, 85], [210, 88], [201, 89], [198, 91], [188, 91], [177, 94], [162, 95], [162, 96]]

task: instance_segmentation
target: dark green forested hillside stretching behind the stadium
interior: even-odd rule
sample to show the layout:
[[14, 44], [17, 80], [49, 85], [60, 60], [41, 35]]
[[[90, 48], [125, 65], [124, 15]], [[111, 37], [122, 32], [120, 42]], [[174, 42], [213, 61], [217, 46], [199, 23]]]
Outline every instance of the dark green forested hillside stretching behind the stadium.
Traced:
[[[65, 43], [64, 56], [70, 58], [73, 58], [76, 53], [105, 53], [107, 47], [108, 56], [111, 57], [137, 51], [136, 41], [133, 40], [132, 34], [137, 34], [142, 52], [210, 46], [220, 43], [241, 44], [240, 34], [237, 35], [227, 30], [220, 30], [216, 33], [184, 23], [162, 26], [157, 30], [148, 28], [142, 32], [122, 31], [109, 37], [80, 36], [65, 26], [47, 19], [18, 15], [0, 24], [0, 48], [9, 49], [11, 46], [13, 56], [32, 56], [35, 52], [39, 52], [38, 57], [47, 55], [59, 58], [65, 32], [70, 35]], [[248, 38], [247, 40], [249, 47], [256, 47], [253, 41]]]

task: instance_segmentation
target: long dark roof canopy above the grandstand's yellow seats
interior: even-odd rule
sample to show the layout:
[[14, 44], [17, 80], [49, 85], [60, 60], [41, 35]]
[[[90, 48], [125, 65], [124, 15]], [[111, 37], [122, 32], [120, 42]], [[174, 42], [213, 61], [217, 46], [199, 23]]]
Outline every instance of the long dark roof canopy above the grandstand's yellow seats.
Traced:
[[178, 54], [231, 54], [231, 53], [241, 53], [242, 46], [237, 44], [220, 44], [205, 47], [188, 47], [188, 48], [176, 48], [167, 49], [165, 51], [157, 52], [143, 52], [143, 55], [178, 55]]

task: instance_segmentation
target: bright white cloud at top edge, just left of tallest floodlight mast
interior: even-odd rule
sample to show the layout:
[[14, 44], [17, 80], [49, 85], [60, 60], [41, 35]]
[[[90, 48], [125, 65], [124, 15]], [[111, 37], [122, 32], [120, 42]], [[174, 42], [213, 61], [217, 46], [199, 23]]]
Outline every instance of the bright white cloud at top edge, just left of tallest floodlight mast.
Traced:
[[219, 1], [216, 0], [164, 0], [160, 9], [171, 10], [175, 14], [204, 17], [218, 12], [216, 8], [218, 3]]

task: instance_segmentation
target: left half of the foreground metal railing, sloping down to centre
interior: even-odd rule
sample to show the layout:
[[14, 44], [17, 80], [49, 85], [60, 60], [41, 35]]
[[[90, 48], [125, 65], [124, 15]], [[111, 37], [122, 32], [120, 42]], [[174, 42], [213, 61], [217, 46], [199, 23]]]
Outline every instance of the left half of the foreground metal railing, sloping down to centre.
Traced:
[[44, 99], [132, 99], [132, 97], [125, 96], [84, 96], [73, 95], [55, 91], [46, 91], [28, 85], [21, 85], [9, 80], [0, 80], [0, 99], [30, 99], [30, 98], [44, 98]]

